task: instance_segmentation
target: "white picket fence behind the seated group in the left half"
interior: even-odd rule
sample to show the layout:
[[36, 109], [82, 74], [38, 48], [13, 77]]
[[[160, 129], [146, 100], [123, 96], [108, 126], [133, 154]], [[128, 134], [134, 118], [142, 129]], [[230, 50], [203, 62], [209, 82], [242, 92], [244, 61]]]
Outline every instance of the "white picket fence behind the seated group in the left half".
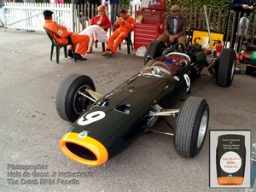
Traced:
[[[66, 26], [71, 32], [81, 32], [84, 27], [90, 24], [88, 15], [84, 15], [84, 25], [78, 13], [81, 9], [91, 13], [91, 17], [97, 15], [96, 8], [92, 6], [90, 10], [88, 4], [84, 7], [76, 7], [72, 3], [5, 3], [5, 17], [8, 28], [17, 28], [33, 31], [44, 31], [44, 15], [43, 11], [49, 9], [55, 14], [53, 15], [55, 22], [61, 26]], [[136, 17], [135, 13], [138, 9], [135, 6], [125, 6], [129, 13]], [[117, 13], [119, 8], [108, 8], [108, 17], [111, 18], [113, 13]]]

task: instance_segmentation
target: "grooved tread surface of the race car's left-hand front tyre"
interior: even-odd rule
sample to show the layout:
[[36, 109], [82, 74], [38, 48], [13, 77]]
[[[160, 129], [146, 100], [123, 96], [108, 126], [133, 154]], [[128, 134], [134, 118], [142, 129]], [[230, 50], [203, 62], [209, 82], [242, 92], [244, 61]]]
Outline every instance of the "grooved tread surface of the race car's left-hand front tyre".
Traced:
[[61, 119], [70, 121], [70, 119], [67, 118], [66, 113], [66, 97], [67, 97], [67, 91], [69, 90], [71, 84], [73, 84], [73, 81], [78, 79], [79, 77], [83, 76], [82, 74], [72, 74], [67, 77], [67, 79], [64, 79], [62, 81], [59, 90], [57, 91], [56, 96], [56, 110]]

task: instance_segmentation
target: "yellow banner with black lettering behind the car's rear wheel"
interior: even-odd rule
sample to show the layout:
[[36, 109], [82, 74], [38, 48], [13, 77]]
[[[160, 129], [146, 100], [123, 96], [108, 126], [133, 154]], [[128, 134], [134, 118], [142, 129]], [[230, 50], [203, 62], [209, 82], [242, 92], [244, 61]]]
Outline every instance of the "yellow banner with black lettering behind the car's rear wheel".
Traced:
[[[216, 44], [218, 44], [218, 40], [221, 42], [223, 41], [224, 34], [211, 32], [211, 38], [212, 38], [212, 49], [216, 48]], [[206, 44], [206, 41], [210, 44], [210, 39], [208, 38], [208, 32], [201, 32], [201, 31], [193, 31], [193, 37], [192, 37], [192, 44], [201, 44], [203, 47]], [[210, 46], [210, 45], [209, 45]]]

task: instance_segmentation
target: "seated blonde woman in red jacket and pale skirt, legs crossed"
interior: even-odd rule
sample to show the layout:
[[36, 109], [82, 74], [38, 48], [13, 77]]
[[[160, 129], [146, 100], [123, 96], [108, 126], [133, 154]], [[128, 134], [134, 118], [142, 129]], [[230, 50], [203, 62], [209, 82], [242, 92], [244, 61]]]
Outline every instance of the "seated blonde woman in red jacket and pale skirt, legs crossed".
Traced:
[[89, 50], [87, 54], [92, 53], [92, 46], [94, 42], [105, 43], [108, 41], [108, 28], [111, 26], [111, 22], [107, 16], [107, 10], [104, 6], [97, 7], [98, 15], [90, 20], [90, 26], [87, 26], [80, 34], [86, 34], [90, 37]]

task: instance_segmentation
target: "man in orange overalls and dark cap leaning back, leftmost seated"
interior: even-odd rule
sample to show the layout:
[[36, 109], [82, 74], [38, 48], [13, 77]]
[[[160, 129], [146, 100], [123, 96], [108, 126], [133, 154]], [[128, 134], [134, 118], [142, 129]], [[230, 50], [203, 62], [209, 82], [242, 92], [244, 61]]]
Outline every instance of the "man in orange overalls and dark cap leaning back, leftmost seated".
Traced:
[[[79, 35], [79, 33], [69, 32], [65, 26], [60, 26], [52, 20], [53, 12], [50, 10], [44, 10], [44, 27], [50, 31], [57, 33], [61, 38], [56, 38], [58, 44], [67, 44], [67, 37], [70, 36], [75, 47], [75, 57], [78, 60], [86, 60], [82, 57], [87, 51], [90, 37], [88, 35]], [[72, 46], [69, 46], [68, 56], [73, 57]]]

